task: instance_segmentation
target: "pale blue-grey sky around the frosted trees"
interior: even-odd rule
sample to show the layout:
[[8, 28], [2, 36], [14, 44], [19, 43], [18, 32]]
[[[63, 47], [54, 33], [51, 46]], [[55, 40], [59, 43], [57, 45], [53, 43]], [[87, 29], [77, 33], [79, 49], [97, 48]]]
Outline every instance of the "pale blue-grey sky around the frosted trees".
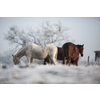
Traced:
[[68, 34], [75, 44], [84, 44], [84, 57], [87, 60], [95, 58], [94, 51], [100, 50], [100, 18], [99, 17], [0, 17], [0, 53], [11, 49], [8, 41], [4, 40], [3, 33], [7, 33], [9, 27], [17, 25], [20, 28], [36, 27], [43, 21], [57, 23], [70, 28]]

